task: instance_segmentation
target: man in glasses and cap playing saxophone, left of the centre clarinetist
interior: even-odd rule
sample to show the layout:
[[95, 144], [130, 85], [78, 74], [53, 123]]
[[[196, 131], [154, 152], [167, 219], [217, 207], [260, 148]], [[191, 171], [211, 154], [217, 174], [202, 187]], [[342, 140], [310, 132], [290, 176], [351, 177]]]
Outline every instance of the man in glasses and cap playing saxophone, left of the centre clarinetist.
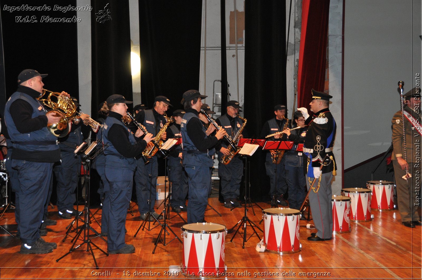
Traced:
[[[138, 123], [143, 124], [146, 130], [155, 137], [167, 122], [163, 115], [167, 111], [168, 106], [172, 105], [167, 97], [162, 95], [157, 96], [155, 97], [154, 107], [149, 110], [141, 110], [138, 112], [136, 119], [138, 120]], [[167, 133], [164, 132], [161, 138], [162, 140], [165, 140], [167, 138]], [[150, 195], [151, 215], [158, 220], [163, 219], [163, 216], [159, 215], [154, 210], [155, 199], [157, 198], [158, 156], [159, 153], [156, 153], [149, 159], [149, 164], [147, 165], [145, 165], [142, 157], [136, 162], [136, 166], [138, 167], [135, 172], [136, 198], [138, 200], [138, 209], [142, 220], [146, 219], [147, 213], [149, 212], [148, 201]], [[154, 221], [154, 217], [149, 216], [149, 220]]]

